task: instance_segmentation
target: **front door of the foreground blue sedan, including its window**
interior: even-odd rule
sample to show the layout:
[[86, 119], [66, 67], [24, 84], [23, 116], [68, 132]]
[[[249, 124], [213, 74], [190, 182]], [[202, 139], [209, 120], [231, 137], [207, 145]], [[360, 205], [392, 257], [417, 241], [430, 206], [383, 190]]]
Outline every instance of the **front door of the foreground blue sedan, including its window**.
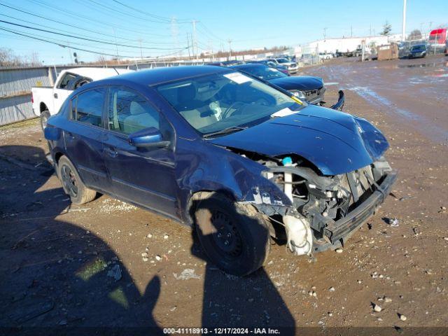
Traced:
[[[104, 162], [111, 176], [113, 192], [123, 200], [176, 218], [178, 186], [174, 177], [174, 129], [138, 92], [127, 87], [111, 87], [104, 137]], [[128, 136], [155, 127], [167, 148], [137, 148]]]

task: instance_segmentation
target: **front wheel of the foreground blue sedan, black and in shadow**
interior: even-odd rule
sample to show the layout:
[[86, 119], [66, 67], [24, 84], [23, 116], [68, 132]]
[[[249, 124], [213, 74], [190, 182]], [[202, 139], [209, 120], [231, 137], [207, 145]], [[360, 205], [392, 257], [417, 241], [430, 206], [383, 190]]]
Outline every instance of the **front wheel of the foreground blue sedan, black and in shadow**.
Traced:
[[267, 259], [268, 225], [251, 205], [211, 193], [197, 201], [194, 220], [204, 252], [224, 272], [251, 274]]

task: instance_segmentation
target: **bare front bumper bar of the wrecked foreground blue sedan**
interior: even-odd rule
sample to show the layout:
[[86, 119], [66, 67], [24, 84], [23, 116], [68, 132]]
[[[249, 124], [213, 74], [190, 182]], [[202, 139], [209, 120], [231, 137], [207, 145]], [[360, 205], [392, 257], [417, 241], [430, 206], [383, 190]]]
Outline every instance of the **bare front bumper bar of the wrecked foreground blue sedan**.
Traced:
[[[360, 226], [375, 213], [377, 207], [384, 202], [396, 179], [396, 170], [388, 172], [382, 183], [379, 185], [379, 188], [377, 188], [367, 200], [360, 204], [356, 209], [353, 209], [353, 211], [347, 214], [344, 218], [339, 219], [339, 221], [336, 221], [323, 229], [323, 235], [326, 239], [328, 239], [331, 244], [337, 244], [341, 240], [344, 243], [346, 239], [349, 239], [353, 232], [360, 228]], [[330, 248], [330, 246], [327, 248]], [[323, 251], [327, 248], [319, 248], [319, 250]]]

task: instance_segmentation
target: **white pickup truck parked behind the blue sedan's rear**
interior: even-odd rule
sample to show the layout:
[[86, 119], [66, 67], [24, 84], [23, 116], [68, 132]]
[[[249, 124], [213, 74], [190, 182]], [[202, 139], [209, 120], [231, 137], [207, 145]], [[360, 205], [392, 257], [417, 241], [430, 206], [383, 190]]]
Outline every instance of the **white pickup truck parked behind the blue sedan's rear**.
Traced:
[[107, 77], [118, 76], [133, 70], [115, 68], [74, 68], [62, 70], [57, 76], [55, 86], [31, 87], [31, 102], [36, 116], [41, 117], [42, 129], [47, 125], [50, 116], [56, 114], [61, 108], [66, 97], [73, 90]]

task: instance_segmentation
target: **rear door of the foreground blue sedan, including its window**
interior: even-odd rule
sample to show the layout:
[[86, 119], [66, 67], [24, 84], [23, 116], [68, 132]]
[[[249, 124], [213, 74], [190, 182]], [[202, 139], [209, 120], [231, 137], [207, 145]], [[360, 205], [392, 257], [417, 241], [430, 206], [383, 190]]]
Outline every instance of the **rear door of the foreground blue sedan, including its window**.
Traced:
[[71, 99], [71, 120], [64, 130], [66, 153], [86, 186], [110, 192], [102, 158], [106, 88], [95, 87]]

